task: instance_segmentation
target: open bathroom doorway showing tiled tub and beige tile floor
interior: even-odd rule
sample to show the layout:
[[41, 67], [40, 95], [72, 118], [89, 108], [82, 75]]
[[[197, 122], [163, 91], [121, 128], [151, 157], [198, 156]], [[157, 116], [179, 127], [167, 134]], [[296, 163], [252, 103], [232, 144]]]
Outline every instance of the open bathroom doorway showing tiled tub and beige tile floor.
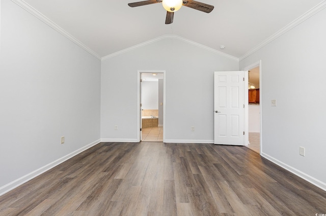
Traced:
[[165, 141], [165, 71], [139, 73], [139, 141]]

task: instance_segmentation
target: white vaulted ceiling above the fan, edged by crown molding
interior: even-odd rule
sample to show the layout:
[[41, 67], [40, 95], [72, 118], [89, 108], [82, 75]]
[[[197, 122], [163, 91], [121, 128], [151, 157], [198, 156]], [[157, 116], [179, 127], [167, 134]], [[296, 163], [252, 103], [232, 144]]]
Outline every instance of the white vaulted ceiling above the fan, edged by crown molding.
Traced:
[[[22, 0], [15, 0], [23, 2]], [[139, 0], [25, 0], [67, 33], [104, 57], [163, 35], [177, 35], [241, 57], [321, 0], [200, 0], [207, 14], [182, 7], [165, 24], [161, 3], [130, 8]], [[220, 46], [226, 48], [220, 50]]]

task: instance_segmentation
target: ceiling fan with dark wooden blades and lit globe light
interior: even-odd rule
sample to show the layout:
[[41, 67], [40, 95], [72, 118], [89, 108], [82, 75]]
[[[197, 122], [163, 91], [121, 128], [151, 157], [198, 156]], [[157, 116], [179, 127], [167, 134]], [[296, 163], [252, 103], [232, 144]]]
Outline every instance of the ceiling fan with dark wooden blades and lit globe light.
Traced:
[[142, 2], [129, 3], [128, 5], [133, 8], [156, 3], [162, 3], [163, 7], [167, 10], [165, 24], [171, 24], [173, 22], [174, 12], [179, 10], [181, 6], [193, 8], [205, 13], [210, 13], [214, 9], [214, 6], [212, 5], [207, 5], [205, 3], [197, 2], [194, 0], [147, 0]]

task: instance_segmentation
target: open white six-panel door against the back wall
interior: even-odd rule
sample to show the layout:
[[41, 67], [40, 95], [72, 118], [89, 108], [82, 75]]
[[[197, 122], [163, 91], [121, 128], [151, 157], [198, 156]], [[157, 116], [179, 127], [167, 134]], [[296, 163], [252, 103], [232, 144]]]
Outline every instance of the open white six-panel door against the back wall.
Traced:
[[214, 72], [214, 144], [244, 145], [244, 72]]

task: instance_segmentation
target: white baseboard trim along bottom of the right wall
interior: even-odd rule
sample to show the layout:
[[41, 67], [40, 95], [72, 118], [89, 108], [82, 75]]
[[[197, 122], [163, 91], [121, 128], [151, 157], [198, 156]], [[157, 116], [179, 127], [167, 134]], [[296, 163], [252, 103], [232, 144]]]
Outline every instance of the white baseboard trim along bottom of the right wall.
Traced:
[[264, 157], [265, 159], [267, 159], [268, 161], [271, 161], [271, 162], [275, 163], [276, 165], [286, 169], [287, 171], [297, 175], [298, 177], [301, 177], [301, 178], [305, 179], [306, 181], [314, 184], [314, 186], [326, 191], [326, 183], [325, 182], [322, 182], [322, 181], [320, 181], [320, 180], [318, 180], [318, 179], [316, 179], [298, 169], [295, 169], [294, 167], [291, 167], [291, 166], [289, 166], [289, 165], [287, 165], [287, 164], [277, 160], [276, 158], [273, 158], [263, 152], [261, 153], [261, 156]]

